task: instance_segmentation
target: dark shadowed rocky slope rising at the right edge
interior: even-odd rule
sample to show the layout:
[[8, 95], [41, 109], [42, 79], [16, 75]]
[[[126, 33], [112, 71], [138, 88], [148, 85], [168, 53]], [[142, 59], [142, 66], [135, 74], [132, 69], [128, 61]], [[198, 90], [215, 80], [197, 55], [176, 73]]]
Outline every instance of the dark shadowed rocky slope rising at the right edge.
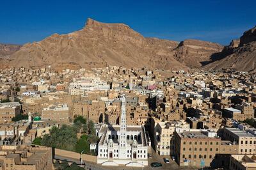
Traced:
[[230, 45], [212, 56], [218, 60], [205, 65], [204, 67], [207, 69], [232, 68], [239, 71], [256, 72], [256, 26], [245, 31], [238, 40], [232, 40]]

